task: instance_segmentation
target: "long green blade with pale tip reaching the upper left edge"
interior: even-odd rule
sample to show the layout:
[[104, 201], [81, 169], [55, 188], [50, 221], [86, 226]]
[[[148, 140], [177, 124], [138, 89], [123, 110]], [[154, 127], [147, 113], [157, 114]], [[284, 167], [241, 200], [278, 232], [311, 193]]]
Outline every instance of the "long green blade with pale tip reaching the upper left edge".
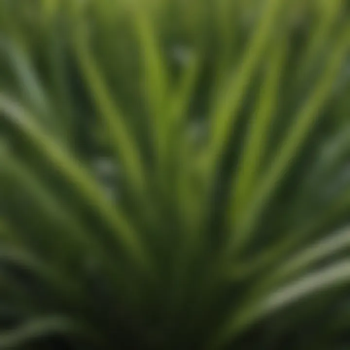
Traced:
[[37, 152], [65, 176], [66, 180], [74, 186], [74, 189], [99, 213], [105, 223], [113, 229], [118, 243], [122, 244], [133, 261], [142, 270], [149, 270], [150, 258], [134, 228], [123, 212], [106, 198], [104, 191], [88, 174], [83, 165], [57, 145], [35, 123], [27, 111], [4, 95], [0, 96], [0, 110], [4, 113], [4, 118], [34, 144]]

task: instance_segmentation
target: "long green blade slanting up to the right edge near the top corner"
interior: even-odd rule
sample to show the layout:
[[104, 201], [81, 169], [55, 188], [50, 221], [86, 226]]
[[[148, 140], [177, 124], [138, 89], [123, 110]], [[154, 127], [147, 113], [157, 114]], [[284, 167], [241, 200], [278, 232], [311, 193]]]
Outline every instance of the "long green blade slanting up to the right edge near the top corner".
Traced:
[[247, 208], [242, 219], [237, 221], [235, 230], [235, 234], [237, 235], [237, 238], [235, 238], [236, 246], [241, 248], [250, 240], [252, 229], [260, 217], [261, 211], [278, 187], [283, 174], [285, 174], [292, 161], [298, 156], [317, 119], [320, 118], [319, 112], [330, 98], [334, 80], [339, 73], [340, 66], [344, 62], [349, 48], [350, 27], [347, 26], [338, 43], [335, 45], [328, 65], [313, 94], [295, 117], [295, 122], [291, 125], [287, 136], [279, 147], [270, 169], [262, 177], [251, 207]]

